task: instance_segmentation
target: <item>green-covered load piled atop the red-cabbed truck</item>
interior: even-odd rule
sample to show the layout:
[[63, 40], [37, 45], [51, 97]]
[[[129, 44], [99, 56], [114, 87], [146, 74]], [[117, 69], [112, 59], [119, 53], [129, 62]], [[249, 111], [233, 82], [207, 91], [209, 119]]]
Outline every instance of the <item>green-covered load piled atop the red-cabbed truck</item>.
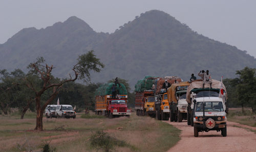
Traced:
[[[109, 95], [109, 94], [112, 94], [112, 86], [115, 85], [115, 83], [105, 83], [103, 85], [101, 85], [99, 88], [96, 89], [95, 91], [95, 95]], [[119, 94], [120, 95], [127, 95], [127, 90], [125, 88], [125, 86], [120, 83], [120, 86], [117, 84], [116, 85], [116, 89], [119, 90]]]

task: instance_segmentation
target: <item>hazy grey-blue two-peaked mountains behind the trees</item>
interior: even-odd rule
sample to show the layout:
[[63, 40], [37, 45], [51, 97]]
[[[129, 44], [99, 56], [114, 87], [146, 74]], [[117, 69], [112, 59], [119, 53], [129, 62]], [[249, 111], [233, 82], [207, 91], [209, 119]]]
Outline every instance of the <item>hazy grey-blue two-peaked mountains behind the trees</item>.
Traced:
[[112, 34], [96, 33], [77, 17], [46, 29], [23, 29], [0, 45], [0, 69], [25, 69], [43, 56], [55, 65], [56, 77], [63, 78], [78, 55], [90, 49], [106, 65], [100, 73], [92, 73], [94, 82], [120, 77], [132, 87], [144, 75], [188, 80], [191, 73], [208, 69], [214, 79], [220, 79], [222, 75], [235, 77], [236, 70], [245, 66], [256, 68], [256, 59], [246, 52], [199, 35], [174, 17], [152, 10]]

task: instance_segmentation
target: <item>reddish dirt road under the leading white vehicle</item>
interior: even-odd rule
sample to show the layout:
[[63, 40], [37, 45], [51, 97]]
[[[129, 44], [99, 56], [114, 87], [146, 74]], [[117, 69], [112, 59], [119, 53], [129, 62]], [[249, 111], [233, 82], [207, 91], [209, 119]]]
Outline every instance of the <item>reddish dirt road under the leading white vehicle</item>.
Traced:
[[199, 137], [194, 137], [194, 128], [186, 121], [164, 122], [182, 131], [181, 140], [168, 151], [256, 151], [256, 134], [233, 126], [244, 127], [236, 122], [227, 122], [227, 137], [222, 137], [221, 132], [216, 131], [199, 132]]

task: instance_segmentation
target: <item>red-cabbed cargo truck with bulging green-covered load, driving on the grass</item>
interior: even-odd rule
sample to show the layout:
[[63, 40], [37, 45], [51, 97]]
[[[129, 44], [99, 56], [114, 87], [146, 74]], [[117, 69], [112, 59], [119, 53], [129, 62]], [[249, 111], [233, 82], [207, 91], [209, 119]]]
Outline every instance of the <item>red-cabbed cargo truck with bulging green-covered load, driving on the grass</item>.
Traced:
[[[119, 97], [112, 96], [111, 87], [115, 83], [101, 85], [95, 91], [95, 114], [109, 118], [127, 116], [130, 117], [131, 109], [127, 108], [127, 91], [123, 84], [117, 84]], [[119, 86], [120, 85], [120, 86]]]

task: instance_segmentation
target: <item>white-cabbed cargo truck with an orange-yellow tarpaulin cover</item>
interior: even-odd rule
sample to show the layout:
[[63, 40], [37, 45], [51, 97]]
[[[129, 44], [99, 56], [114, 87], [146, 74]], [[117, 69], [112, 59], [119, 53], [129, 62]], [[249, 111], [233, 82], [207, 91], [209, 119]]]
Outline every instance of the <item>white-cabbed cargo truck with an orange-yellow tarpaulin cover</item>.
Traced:
[[186, 92], [187, 87], [190, 85], [188, 82], [181, 82], [172, 84], [167, 89], [167, 98], [170, 105], [169, 117], [170, 121], [182, 122], [182, 120], [187, 119], [187, 102], [186, 102]]

